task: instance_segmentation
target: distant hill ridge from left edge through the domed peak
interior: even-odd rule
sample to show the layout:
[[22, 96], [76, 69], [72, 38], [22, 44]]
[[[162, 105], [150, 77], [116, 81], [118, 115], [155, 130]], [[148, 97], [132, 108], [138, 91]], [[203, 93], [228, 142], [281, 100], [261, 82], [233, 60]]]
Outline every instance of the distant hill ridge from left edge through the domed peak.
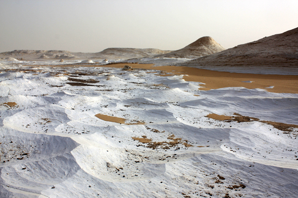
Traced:
[[0, 53], [0, 57], [13, 56], [25, 59], [121, 59], [141, 57], [176, 57], [197, 58], [224, 50], [224, 48], [209, 36], [197, 39], [182, 49], [175, 51], [155, 48], [107, 48], [101, 52], [83, 53], [65, 50], [14, 50]]

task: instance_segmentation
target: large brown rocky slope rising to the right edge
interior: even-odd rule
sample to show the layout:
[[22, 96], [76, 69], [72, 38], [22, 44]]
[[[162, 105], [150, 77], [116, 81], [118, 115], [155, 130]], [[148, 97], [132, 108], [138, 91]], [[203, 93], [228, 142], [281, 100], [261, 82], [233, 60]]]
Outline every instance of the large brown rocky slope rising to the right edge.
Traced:
[[298, 28], [237, 45], [222, 52], [184, 63], [190, 67], [217, 65], [298, 65]]

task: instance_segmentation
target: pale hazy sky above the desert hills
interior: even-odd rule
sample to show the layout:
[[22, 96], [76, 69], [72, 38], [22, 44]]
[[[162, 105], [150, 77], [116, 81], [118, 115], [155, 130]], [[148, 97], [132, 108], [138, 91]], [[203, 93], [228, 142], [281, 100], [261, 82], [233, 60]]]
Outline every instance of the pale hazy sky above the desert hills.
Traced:
[[0, 52], [225, 48], [298, 27], [297, 0], [0, 0]]

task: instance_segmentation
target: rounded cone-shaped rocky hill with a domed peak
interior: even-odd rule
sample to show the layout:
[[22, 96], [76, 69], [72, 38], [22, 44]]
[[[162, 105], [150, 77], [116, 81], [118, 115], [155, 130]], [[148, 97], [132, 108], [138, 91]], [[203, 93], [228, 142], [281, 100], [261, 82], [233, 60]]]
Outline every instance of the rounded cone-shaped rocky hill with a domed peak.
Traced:
[[166, 54], [157, 55], [157, 57], [175, 57], [175, 58], [197, 58], [214, 54], [225, 50], [223, 46], [217, 43], [210, 36], [204, 36], [193, 43]]

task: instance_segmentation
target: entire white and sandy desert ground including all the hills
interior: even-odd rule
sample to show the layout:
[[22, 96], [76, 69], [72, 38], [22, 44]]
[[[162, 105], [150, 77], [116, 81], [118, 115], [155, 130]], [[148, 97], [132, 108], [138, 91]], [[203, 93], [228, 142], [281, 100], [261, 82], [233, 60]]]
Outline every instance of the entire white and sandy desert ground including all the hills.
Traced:
[[298, 194], [298, 28], [0, 58], [1, 197]]

